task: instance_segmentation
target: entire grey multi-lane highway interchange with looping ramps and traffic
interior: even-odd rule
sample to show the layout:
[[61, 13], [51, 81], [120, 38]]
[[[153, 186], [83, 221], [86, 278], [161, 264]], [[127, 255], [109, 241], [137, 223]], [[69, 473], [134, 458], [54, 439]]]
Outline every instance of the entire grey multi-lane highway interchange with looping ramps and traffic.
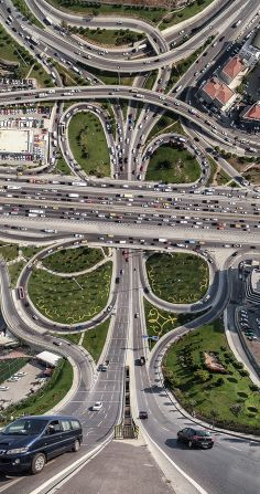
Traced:
[[[110, 360], [108, 371], [97, 372], [90, 357], [79, 347], [67, 345], [65, 339], [58, 350], [55, 347], [55, 353], [58, 351], [69, 358], [75, 368], [76, 390], [61, 411], [76, 414], [84, 424], [84, 444], [77, 459], [111, 439], [113, 425], [120, 421], [122, 413], [123, 367], [128, 364], [134, 382], [133, 413], [140, 409], [149, 410], [149, 420], [141, 425], [143, 434], [148, 442], [153, 441], [158, 451], [159, 449], [163, 451], [167, 461], [172, 462], [172, 479], [178, 479], [181, 469], [189, 477], [188, 481], [187, 477], [184, 480], [181, 475], [182, 481], [180, 481], [180, 485], [182, 488], [184, 485], [187, 493], [256, 494], [260, 488], [259, 442], [250, 438], [217, 433], [216, 448], [209, 454], [204, 451], [191, 454], [186, 449], [177, 448], [176, 431], [187, 422], [189, 423], [189, 419], [176, 411], [175, 404], [169, 401], [160, 380], [160, 362], [165, 347], [175, 337], [223, 314], [229, 302], [230, 285], [237, 283], [236, 273], [231, 275], [230, 266], [234, 262], [251, 259], [259, 253], [260, 191], [258, 187], [243, 182], [242, 176], [220, 159], [218, 162], [230, 175], [230, 179], [242, 187], [207, 186], [209, 174], [207, 156], [213, 153], [214, 146], [231, 151], [236, 149], [236, 153], [242, 156], [245, 154], [258, 156], [260, 144], [257, 135], [245, 135], [239, 128], [227, 126], [216, 115], [205, 115], [203, 109], [198, 108], [195, 114], [191, 113], [189, 99], [180, 98], [176, 85], [169, 93], [158, 90], [166, 87], [172, 64], [201, 48], [207, 38], [214, 35], [219, 39], [219, 34], [225, 36], [223, 42], [218, 41], [217, 46], [207, 45], [207, 54], [199, 64], [206, 65], [208, 61], [223, 56], [229, 43], [232, 41], [235, 43], [237, 38], [248, 32], [247, 27], [251, 20], [253, 20], [253, 25], [250, 29], [258, 24], [259, 18], [256, 15], [259, 6], [257, 2], [237, 0], [224, 1], [219, 9], [219, 2], [215, 1], [205, 17], [202, 15], [195, 22], [189, 20], [188, 25], [185, 27], [187, 39], [183, 42], [180, 28], [176, 27], [167, 29], [164, 33], [137, 19], [108, 20], [98, 17], [86, 20], [50, 8], [43, 0], [37, 2], [26, 0], [26, 4], [43, 23], [46, 13], [51, 15], [53, 24], [45, 27], [44, 30], [29, 24], [14, 10], [12, 3], [6, 0], [0, 3], [0, 19], [4, 28], [15, 41], [25, 45], [32, 53], [40, 54], [39, 61], [50, 72], [52, 66], [45, 57], [46, 52], [47, 57], [58, 61], [64, 66], [69, 67], [71, 61], [74, 65], [78, 64], [83, 76], [86, 77], [86, 85], [62, 87], [57, 74], [58, 84], [51, 90], [0, 93], [0, 105], [3, 107], [23, 103], [57, 103], [54, 112], [58, 112], [55, 116], [59, 125], [53, 118], [52, 132], [58, 133], [61, 151], [73, 174], [71, 177], [55, 175], [51, 161], [52, 156], [55, 157], [52, 145], [50, 159], [41, 167], [36, 166], [29, 170], [28, 175], [19, 176], [11, 167], [0, 166], [1, 239], [37, 244], [43, 248], [21, 274], [20, 283], [24, 287], [26, 287], [33, 263], [48, 255], [50, 249], [54, 252], [71, 244], [84, 244], [85, 241], [93, 245], [115, 248], [113, 275], [108, 301], [108, 305], [115, 309], [115, 315], [111, 316], [108, 344], [102, 355], [104, 358]], [[6, 23], [8, 8], [11, 8], [13, 17], [11, 25]], [[242, 27], [234, 28], [241, 17]], [[100, 48], [95, 46], [94, 43], [80, 39], [79, 45], [77, 36], [68, 35], [68, 33], [64, 36], [62, 34], [64, 29], [57, 28], [62, 20], [71, 25], [80, 27], [86, 25], [87, 22], [88, 27], [105, 27], [106, 29], [118, 29], [120, 23], [120, 29], [142, 32], [150, 43], [150, 49], [141, 51], [139, 56], [132, 52], [126, 55], [123, 54], [126, 50], [121, 49], [99, 53]], [[36, 46], [29, 45], [25, 41], [28, 32], [39, 40]], [[24, 35], [21, 36], [23, 33]], [[107, 69], [119, 77], [124, 73], [136, 74], [134, 85], [132, 87], [120, 83], [116, 86], [105, 85], [91, 74], [91, 67], [102, 71]], [[158, 70], [159, 73], [153, 90], [149, 91], [143, 87], [145, 82], [143, 74], [152, 70]], [[193, 64], [177, 84], [181, 83], [184, 88], [188, 87], [192, 81], [192, 84], [196, 85]], [[118, 124], [116, 135], [109, 132], [110, 118], [100, 105], [105, 99], [109, 99], [113, 108]], [[136, 125], [132, 126], [128, 118], [123, 118], [121, 99], [128, 103], [128, 114], [132, 114]], [[69, 101], [73, 106], [64, 109], [63, 102]], [[143, 104], [140, 112], [138, 112], [138, 102]], [[67, 128], [72, 116], [82, 109], [91, 111], [101, 122], [110, 151], [111, 176], [109, 178], [87, 177], [74, 160]], [[169, 140], [175, 145], [182, 143], [180, 138], [183, 138], [183, 135], [171, 132], [145, 144], [150, 130], [164, 111], [178, 115], [185, 123], [188, 122], [193, 126], [194, 135], [199, 136], [199, 144], [197, 144], [191, 132], [183, 143], [199, 164], [201, 177], [194, 183], [162, 185], [145, 181], [145, 170], [152, 153]], [[64, 129], [61, 132], [63, 124]], [[129, 262], [126, 262], [122, 256], [122, 250], [126, 249], [129, 253]], [[165, 252], [195, 251], [208, 260], [213, 283], [208, 292], [209, 299], [201, 301], [189, 307], [193, 312], [205, 309], [205, 313], [177, 328], [174, 335], [170, 334], [161, 340], [149, 356], [149, 365], [140, 368], [134, 366], [134, 361], [140, 357], [140, 353], [148, 351], [148, 348], [143, 347], [142, 339], [145, 327], [143, 295], [154, 302], [152, 294], [145, 293], [143, 249]], [[115, 284], [115, 276], [120, 270], [122, 272], [120, 283]], [[25, 307], [21, 301], [18, 301], [14, 291], [9, 290], [9, 275], [3, 262], [0, 265], [0, 280], [2, 314], [7, 325], [15, 335], [34, 346], [37, 345], [39, 348], [53, 350], [54, 327], [55, 333], [61, 333], [61, 338], [64, 330], [78, 330], [76, 327], [54, 324], [40, 314], [39, 319], [33, 320], [34, 308], [31, 305]], [[164, 308], [171, 309], [165, 305]], [[172, 311], [176, 307], [172, 307]], [[140, 318], [134, 318], [136, 313], [140, 313]], [[108, 315], [105, 308], [95, 319], [80, 325], [79, 330], [94, 327]], [[96, 400], [104, 402], [104, 408], [98, 413], [89, 410]], [[59, 480], [63, 479], [64, 469], [71, 463], [69, 455], [61, 456], [50, 463], [41, 479], [39, 476], [1, 479], [0, 492], [12, 494], [17, 492], [18, 486], [21, 494], [33, 493], [36, 488], [39, 490], [35, 492], [39, 493], [52, 492], [53, 479], [57, 476], [55, 482], [58, 485]], [[178, 471], [174, 464], [177, 465]], [[74, 480], [76, 482], [77, 476]], [[66, 484], [62, 488], [68, 492]], [[181, 492], [177, 486], [176, 492]]]

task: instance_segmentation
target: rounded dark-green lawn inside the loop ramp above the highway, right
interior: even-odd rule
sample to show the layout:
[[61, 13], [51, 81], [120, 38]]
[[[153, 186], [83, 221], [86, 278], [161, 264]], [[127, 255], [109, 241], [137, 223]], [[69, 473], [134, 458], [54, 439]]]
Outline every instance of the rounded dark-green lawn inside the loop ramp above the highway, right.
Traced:
[[194, 182], [201, 176], [199, 165], [188, 150], [170, 145], [160, 146], [152, 155], [147, 180], [162, 180], [169, 183]]

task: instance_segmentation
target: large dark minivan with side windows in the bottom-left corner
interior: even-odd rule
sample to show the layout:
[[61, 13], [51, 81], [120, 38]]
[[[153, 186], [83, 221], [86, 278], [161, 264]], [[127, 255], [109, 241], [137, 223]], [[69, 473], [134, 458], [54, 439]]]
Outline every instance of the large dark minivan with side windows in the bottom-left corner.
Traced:
[[79, 420], [68, 416], [22, 417], [0, 431], [0, 472], [42, 472], [45, 463], [83, 442]]

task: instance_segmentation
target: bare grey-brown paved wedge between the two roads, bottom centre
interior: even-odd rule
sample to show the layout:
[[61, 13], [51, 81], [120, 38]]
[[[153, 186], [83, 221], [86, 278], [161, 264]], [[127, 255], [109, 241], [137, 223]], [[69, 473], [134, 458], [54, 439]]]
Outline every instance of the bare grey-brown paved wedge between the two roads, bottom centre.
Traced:
[[[86, 487], [87, 480], [87, 487]], [[111, 441], [62, 485], [63, 494], [174, 494], [142, 439]]]

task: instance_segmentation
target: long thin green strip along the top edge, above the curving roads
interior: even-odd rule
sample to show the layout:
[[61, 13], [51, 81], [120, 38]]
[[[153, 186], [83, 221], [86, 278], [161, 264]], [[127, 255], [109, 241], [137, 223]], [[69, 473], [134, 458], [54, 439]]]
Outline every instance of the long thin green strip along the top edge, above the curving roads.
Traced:
[[122, 4], [104, 4], [104, 3], [83, 3], [75, 1], [72, 4], [71, 0], [48, 0], [48, 3], [57, 7], [58, 9], [68, 10], [72, 12], [89, 14], [89, 15], [129, 15], [140, 19], [148, 19], [151, 22], [158, 23], [162, 17], [166, 13], [166, 10], [160, 7], [139, 7], [139, 6], [122, 6]]

